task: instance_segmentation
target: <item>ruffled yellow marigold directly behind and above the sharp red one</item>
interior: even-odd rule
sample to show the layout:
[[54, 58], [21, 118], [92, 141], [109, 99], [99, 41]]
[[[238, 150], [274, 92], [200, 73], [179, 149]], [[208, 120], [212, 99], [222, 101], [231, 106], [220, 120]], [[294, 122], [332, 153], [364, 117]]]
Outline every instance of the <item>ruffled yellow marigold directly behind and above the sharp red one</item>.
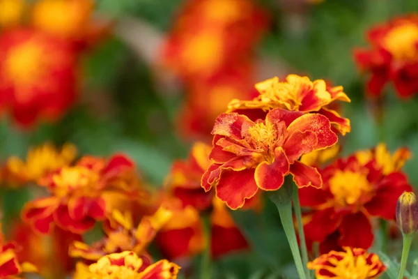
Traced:
[[[330, 104], [335, 100], [350, 102], [342, 86], [327, 86], [325, 80], [314, 80], [299, 75], [288, 75], [284, 82], [278, 77], [259, 82], [256, 89], [260, 93], [253, 100], [234, 99], [228, 105], [228, 112], [240, 112], [249, 116], [261, 116], [275, 108], [298, 112], [318, 112], [325, 115], [342, 135], [351, 130], [350, 120], [343, 118]], [[247, 111], [249, 110], [249, 111]], [[258, 110], [258, 111], [257, 111]], [[255, 120], [255, 119], [253, 119]]]

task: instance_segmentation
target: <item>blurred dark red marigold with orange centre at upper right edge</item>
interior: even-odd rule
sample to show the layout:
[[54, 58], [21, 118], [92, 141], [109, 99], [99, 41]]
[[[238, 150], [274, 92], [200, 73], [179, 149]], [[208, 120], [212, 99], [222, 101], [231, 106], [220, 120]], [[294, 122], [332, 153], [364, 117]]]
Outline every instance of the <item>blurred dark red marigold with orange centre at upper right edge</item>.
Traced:
[[355, 50], [355, 60], [360, 70], [370, 73], [369, 96], [380, 96], [388, 82], [393, 82], [401, 98], [417, 93], [418, 15], [398, 17], [373, 27], [367, 38], [371, 47]]

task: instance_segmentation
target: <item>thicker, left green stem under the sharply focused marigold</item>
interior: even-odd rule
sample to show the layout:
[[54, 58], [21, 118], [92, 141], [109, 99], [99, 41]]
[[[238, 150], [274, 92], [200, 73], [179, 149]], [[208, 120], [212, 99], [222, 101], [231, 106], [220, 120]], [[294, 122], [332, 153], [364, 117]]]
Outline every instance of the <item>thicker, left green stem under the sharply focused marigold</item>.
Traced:
[[302, 259], [300, 258], [299, 247], [297, 246], [295, 227], [293, 226], [292, 204], [289, 202], [286, 205], [277, 206], [277, 209], [279, 210], [281, 225], [283, 225], [284, 233], [288, 239], [289, 246], [291, 246], [293, 260], [295, 261], [299, 278], [307, 279]]

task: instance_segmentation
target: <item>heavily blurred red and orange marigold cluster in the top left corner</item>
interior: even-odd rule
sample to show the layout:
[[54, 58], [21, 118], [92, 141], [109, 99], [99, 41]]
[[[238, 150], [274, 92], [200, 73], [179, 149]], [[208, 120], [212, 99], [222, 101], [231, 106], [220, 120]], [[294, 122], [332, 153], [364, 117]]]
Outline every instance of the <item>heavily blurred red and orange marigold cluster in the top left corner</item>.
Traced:
[[[107, 30], [91, 20], [93, 4], [0, 1], [0, 109], [20, 126], [53, 121], [75, 103], [79, 58]], [[24, 25], [27, 10], [31, 18]]]

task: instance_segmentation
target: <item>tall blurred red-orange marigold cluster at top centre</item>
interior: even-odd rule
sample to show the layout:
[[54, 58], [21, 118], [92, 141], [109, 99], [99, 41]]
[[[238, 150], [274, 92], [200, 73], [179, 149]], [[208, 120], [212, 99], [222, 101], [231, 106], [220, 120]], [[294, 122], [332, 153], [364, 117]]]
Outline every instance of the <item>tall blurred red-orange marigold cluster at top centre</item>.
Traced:
[[162, 49], [162, 63], [187, 90], [183, 134], [207, 137], [229, 100], [251, 98], [254, 45], [267, 22], [251, 0], [186, 2]]

